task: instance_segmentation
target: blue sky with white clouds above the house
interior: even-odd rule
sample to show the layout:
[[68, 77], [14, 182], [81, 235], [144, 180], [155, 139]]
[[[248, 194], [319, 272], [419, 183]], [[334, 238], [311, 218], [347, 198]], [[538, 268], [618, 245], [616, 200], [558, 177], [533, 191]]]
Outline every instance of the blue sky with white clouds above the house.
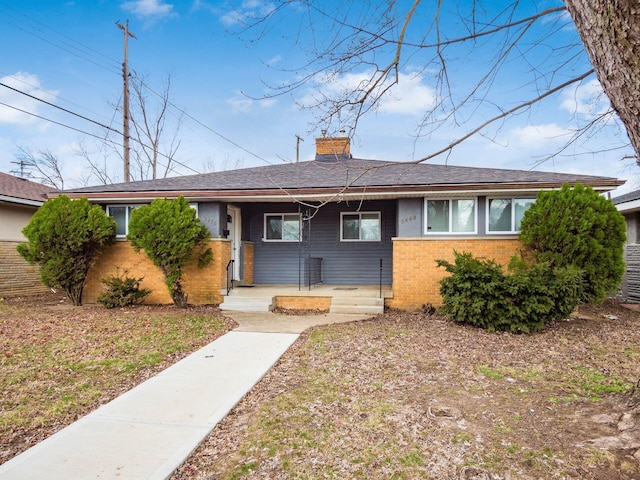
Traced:
[[[336, 8], [344, 5], [340, 0], [320, 3], [325, 7], [334, 3]], [[154, 91], [162, 90], [169, 75], [170, 100], [188, 114], [178, 131], [181, 143], [175, 155], [184, 165], [181, 173], [294, 161], [296, 135], [303, 139], [300, 159], [309, 160], [321, 127], [313, 125], [317, 111], [301, 109], [299, 104], [313, 101], [319, 92], [331, 93], [353, 85], [366, 72], [354, 69], [334, 76], [327, 84], [311, 83], [292, 94], [255, 100], [272, 92], [269, 85], [295, 81], [299, 72], [292, 67], [308, 58], [304, 47], [312, 40], [322, 41], [318, 38], [322, 26], [318, 25], [317, 31], [304, 28], [306, 17], [296, 11], [295, 5], [282, 9], [259, 41], [255, 41], [259, 30], [242, 33], [240, 22], [270, 11], [273, 5], [259, 0], [0, 0], [4, 46], [0, 83], [121, 131], [121, 116], [114, 105], [122, 96], [123, 31], [116, 23], [128, 20], [136, 36], [129, 40], [130, 70], [144, 77]], [[539, 2], [538, 9], [558, 5], [561, 3], [557, 1]], [[422, 23], [416, 25], [420, 26], [428, 19], [418, 20]], [[575, 32], [567, 30], [549, 41], [575, 40]], [[491, 46], [487, 47], [490, 51]], [[484, 107], [468, 110], [458, 125], [446, 124], [416, 140], [416, 124], [424, 107], [438, 98], [433, 71], [424, 69], [420, 60], [414, 55], [401, 65], [400, 84], [377, 111], [358, 124], [352, 140], [354, 156], [415, 160], [492, 115]], [[464, 86], [486, 61], [474, 56], [451, 65], [453, 81]], [[578, 57], [576, 69], [581, 63], [587, 65], [586, 55]], [[531, 65], [514, 61], [496, 78], [506, 104], [528, 98], [529, 93], [522, 91], [519, 82], [527, 68]], [[628, 180], [618, 193], [640, 188], [640, 167], [622, 159], [632, 152], [630, 148], [617, 148], [624, 144], [624, 135], [613, 120], [579, 147], [538, 165], [545, 154], [563, 143], [568, 131], [606, 107], [599, 93], [592, 77], [526, 115], [475, 136], [451, 155], [429, 161], [608, 175]], [[152, 93], [149, 95], [153, 98]], [[178, 109], [170, 109], [168, 129], [178, 115]], [[350, 125], [331, 125], [332, 129], [341, 127], [351, 131]], [[95, 158], [106, 159], [114, 175], [121, 175], [121, 161], [100, 140], [103, 136], [103, 130], [86, 119], [0, 86], [0, 171], [16, 169], [12, 162], [19, 147], [49, 150], [62, 163], [66, 186], [79, 186], [87, 182], [86, 164], [77, 154], [82, 144]], [[589, 153], [595, 150], [608, 152]]]

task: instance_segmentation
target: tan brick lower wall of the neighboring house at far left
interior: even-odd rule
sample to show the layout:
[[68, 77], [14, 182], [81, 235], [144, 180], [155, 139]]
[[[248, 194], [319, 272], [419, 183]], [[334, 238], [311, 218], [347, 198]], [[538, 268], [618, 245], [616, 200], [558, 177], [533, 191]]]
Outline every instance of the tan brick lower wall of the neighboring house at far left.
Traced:
[[0, 241], [0, 297], [48, 292], [40, 281], [37, 265], [29, 265], [16, 247], [21, 242]]

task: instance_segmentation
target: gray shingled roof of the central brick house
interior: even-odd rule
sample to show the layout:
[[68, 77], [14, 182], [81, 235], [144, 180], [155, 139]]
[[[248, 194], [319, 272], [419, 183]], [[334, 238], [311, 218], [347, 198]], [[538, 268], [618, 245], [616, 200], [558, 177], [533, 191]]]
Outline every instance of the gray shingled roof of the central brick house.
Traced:
[[[535, 188], [580, 182], [586, 185], [615, 188], [622, 181], [611, 177], [551, 172], [504, 170], [495, 168], [455, 167], [351, 158], [342, 161], [307, 161], [269, 165], [222, 172], [189, 175], [160, 180], [146, 180], [67, 190], [73, 194], [126, 194], [141, 192], [278, 192], [282, 190], [323, 190], [350, 188], [409, 187], [442, 188], [474, 186], [491, 188], [514, 185]], [[75, 196], [75, 195], [74, 195]], [[91, 195], [93, 196], [93, 195]]]

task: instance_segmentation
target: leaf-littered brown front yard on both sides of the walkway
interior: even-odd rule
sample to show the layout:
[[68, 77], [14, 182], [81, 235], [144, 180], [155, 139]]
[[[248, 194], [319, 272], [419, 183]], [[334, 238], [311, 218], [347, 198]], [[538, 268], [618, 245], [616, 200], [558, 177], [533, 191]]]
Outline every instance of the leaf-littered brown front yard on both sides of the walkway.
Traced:
[[[230, 327], [215, 307], [6, 299], [0, 462]], [[640, 480], [639, 327], [614, 301], [532, 335], [397, 311], [316, 327], [172, 478]], [[16, 370], [37, 351], [38, 367]], [[89, 377], [68, 384], [75, 370]]]

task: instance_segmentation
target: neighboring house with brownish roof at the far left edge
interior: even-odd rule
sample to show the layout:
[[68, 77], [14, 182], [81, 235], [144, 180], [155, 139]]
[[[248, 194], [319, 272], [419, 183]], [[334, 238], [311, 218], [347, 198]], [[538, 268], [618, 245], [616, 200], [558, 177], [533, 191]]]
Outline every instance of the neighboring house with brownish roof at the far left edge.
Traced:
[[51, 187], [0, 173], [0, 297], [43, 293], [38, 268], [16, 250], [26, 241], [22, 229], [45, 201]]

